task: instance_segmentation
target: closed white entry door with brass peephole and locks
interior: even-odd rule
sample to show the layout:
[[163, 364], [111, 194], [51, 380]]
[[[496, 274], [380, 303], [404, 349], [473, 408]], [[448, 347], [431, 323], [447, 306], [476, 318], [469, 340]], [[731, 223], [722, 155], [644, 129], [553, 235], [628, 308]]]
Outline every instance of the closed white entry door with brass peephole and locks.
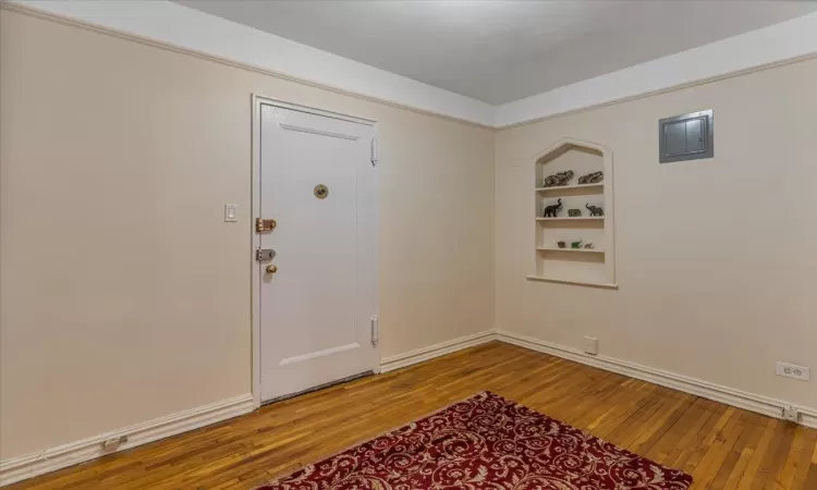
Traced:
[[374, 137], [368, 123], [260, 106], [260, 217], [277, 222], [260, 236], [275, 257], [258, 262], [263, 401], [377, 366]]

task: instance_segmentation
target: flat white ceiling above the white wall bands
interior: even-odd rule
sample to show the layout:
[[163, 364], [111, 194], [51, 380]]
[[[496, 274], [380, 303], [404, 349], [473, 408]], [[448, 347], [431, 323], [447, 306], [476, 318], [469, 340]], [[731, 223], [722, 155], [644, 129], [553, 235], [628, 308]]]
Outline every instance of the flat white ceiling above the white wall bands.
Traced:
[[817, 11], [757, 0], [178, 3], [492, 105]]

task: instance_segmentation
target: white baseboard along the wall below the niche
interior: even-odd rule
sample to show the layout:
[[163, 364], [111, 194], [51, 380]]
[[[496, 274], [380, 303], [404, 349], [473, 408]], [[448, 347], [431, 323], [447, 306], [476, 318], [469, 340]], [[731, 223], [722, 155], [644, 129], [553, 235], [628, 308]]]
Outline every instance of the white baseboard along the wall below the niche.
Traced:
[[[709, 381], [688, 378], [685, 376], [676, 375], [674, 372], [669, 372], [648, 366], [642, 366], [639, 364], [630, 363], [613, 357], [593, 356], [573, 347], [520, 335], [517, 333], [512, 333], [504, 330], [497, 330], [496, 338], [499, 341], [519, 345], [520, 347], [544, 352], [546, 354], [562, 357], [569, 360], [575, 360], [576, 363], [597, 367], [607, 371], [618, 372], [619, 375], [649, 381], [655, 384], [672, 388], [673, 390], [683, 391], [685, 393], [691, 393], [704, 399], [725, 403], [727, 405], [756, 412], [769, 417], [782, 418], [783, 407], [796, 406], [796, 404], [788, 403], [781, 400], [775, 400], [754, 393], [747, 393], [745, 391], [735, 390], [733, 388], [723, 387], [721, 384], [711, 383]], [[800, 422], [806, 427], [817, 428], [817, 411], [805, 407], [798, 408], [801, 412]]]

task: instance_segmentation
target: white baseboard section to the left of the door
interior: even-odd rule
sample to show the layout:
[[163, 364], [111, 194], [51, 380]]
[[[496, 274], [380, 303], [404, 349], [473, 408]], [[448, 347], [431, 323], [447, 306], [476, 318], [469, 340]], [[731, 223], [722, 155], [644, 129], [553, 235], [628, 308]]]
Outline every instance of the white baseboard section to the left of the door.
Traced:
[[[156, 418], [135, 426], [100, 433], [82, 441], [49, 448], [46, 451], [26, 454], [0, 462], [0, 487], [66, 466], [94, 460], [106, 454], [129, 450], [159, 439], [169, 438], [199, 427], [253, 412], [253, 395], [247, 393], [209, 405]], [[127, 442], [115, 451], [102, 451], [108, 439], [127, 436]]]

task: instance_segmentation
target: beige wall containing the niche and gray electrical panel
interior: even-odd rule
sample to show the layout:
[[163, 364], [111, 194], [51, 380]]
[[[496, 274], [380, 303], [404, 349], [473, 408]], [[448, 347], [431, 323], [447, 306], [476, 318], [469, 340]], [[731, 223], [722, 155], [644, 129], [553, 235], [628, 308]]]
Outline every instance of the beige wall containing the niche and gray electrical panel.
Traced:
[[[500, 131], [497, 327], [817, 407], [817, 61]], [[715, 110], [710, 160], [658, 163], [657, 122]], [[608, 291], [528, 282], [532, 157], [562, 137], [614, 161], [617, 279]]]

